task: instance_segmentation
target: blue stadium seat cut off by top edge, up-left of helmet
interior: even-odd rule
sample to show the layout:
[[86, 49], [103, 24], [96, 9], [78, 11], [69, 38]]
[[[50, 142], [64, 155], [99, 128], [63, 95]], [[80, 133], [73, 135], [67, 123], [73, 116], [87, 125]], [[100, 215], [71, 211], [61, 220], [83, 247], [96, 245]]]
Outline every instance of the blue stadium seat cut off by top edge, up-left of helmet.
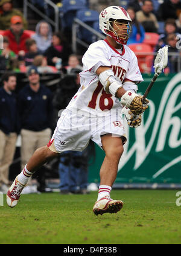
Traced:
[[65, 28], [71, 30], [77, 11], [85, 8], [87, 8], [86, 0], [63, 0], [62, 6], [59, 8], [63, 30]]

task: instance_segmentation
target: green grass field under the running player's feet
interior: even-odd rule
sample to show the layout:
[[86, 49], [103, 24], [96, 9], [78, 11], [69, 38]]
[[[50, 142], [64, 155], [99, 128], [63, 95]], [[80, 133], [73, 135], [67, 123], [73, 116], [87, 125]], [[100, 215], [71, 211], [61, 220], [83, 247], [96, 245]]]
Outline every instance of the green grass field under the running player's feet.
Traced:
[[124, 201], [116, 214], [95, 216], [97, 192], [25, 194], [15, 208], [0, 206], [0, 243], [181, 243], [176, 190], [113, 190]]

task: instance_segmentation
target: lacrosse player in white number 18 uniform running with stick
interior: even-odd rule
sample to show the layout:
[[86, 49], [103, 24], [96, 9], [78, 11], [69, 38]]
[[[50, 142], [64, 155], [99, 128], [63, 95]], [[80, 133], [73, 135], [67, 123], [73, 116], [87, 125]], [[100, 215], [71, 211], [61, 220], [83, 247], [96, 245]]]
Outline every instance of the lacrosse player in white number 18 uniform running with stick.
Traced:
[[135, 54], [126, 46], [131, 24], [122, 7], [101, 11], [100, 29], [106, 39], [92, 43], [84, 54], [80, 89], [63, 110], [48, 145], [34, 152], [14, 180], [7, 193], [8, 206], [16, 206], [28, 179], [42, 164], [66, 150], [82, 151], [92, 139], [106, 153], [93, 211], [97, 215], [121, 210], [123, 202], [110, 198], [126, 141], [121, 109], [128, 124], [137, 127], [148, 107], [148, 100], [142, 102], [142, 96], [136, 94], [143, 79]]

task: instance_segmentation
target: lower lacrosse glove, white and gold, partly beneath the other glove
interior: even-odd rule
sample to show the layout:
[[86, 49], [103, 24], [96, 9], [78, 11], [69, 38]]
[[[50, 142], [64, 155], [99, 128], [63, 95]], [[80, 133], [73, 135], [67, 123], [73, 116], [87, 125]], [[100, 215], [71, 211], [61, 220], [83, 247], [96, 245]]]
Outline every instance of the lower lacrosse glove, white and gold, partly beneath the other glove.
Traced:
[[127, 120], [127, 124], [130, 127], [136, 128], [141, 125], [141, 114], [140, 115], [133, 115], [130, 109], [127, 107], [122, 108], [122, 114], [125, 115]]

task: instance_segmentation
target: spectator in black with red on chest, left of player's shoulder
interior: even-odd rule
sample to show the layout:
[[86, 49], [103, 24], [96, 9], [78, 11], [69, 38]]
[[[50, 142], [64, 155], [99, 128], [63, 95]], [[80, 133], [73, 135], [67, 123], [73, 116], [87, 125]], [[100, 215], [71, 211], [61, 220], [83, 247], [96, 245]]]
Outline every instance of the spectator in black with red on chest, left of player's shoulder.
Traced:
[[62, 65], [66, 66], [70, 54], [71, 49], [63, 34], [60, 32], [54, 33], [52, 35], [52, 45], [44, 53], [44, 56], [47, 57], [48, 65], [56, 66], [59, 59], [62, 59]]

